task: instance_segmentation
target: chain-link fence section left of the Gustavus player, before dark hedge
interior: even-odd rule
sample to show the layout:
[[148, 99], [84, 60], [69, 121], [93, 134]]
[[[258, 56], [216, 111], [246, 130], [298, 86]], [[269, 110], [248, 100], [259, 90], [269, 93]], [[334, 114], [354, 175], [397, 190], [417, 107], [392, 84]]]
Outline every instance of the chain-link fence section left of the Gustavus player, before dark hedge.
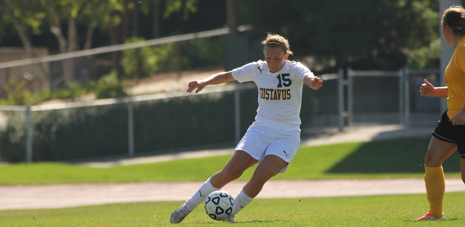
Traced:
[[198, 95], [179, 91], [0, 106], [1, 158], [32, 162], [134, 156], [237, 142], [254, 120], [257, 92], [256, 86], [248, 83], [206, 88]]

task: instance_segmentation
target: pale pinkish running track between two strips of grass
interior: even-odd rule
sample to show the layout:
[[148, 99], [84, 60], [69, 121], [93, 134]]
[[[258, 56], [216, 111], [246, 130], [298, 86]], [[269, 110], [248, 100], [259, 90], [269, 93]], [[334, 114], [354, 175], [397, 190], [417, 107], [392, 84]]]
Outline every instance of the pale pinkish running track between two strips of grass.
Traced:
[[[231, 182], [222, 190], [233, 196], [246, 182]], [[202, 182], [146, 182], [124, 184], [62, 184], [0, 186], [0, 210], [66, 208], [121, 202], [187, 200]], [[461, 179], [445, 180], [446, 192], [465, 191]], [[426, 193], [423, 179], [269, 181], [257, 198]], [[169, 196], [167, 196], [169, 195]], [[177, 195], [177, 196], [174, 196]]]

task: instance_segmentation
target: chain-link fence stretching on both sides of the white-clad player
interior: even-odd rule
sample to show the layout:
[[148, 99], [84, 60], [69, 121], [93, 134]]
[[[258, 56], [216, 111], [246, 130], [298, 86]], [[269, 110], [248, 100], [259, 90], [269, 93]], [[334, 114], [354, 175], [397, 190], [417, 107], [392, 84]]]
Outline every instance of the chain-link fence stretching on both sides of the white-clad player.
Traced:
[[[434, 125], [439, 99], [421, 97], [439, 71], [344, 71], [319, 75], [324, 86], [304, 86], [303, 130], [346, 125]], [[253, 83], [137, 97], [38, 106], [0, 106], [0, 151], [14, 161], [64, 160], [235, 143], [258, 107]], [[68, 150], [68, 152], [63, 152]], [[6, 152], [8, 151], [8, 152]], [[6, 155], [6, 153], [8, 153]]]

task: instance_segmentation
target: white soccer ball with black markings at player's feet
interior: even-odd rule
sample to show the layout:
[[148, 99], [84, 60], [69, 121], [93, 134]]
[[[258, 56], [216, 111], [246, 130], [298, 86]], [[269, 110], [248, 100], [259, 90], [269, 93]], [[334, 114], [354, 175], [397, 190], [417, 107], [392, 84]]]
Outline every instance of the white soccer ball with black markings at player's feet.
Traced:
[[231, 217], [234, 212], [234, 198], [225, 191], [214, 191], [205, 199], [206, 214], [216, 221]]

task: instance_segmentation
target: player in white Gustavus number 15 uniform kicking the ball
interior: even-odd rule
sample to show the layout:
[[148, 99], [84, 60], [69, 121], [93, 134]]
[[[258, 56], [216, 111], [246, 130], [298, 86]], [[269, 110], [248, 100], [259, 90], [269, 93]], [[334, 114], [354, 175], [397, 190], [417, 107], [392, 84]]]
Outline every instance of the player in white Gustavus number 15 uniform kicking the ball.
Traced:
[[302, 86], [319, 89], [323, 81], [299, 62], [289, 61], [292, 52], [286, 38], [268, 34], [265, 45], [265, 62], [259, 60], [228, 72], [221, 72], [203, 80], [189, 82], [187, 92], [195, 93], [209, 84], [222, 84], [237, 80], [253, 81], [259, 95], [257, 116], [246, 135], [236, 146], [226, 166], [211, 176], [181, 207], [173, 211], [170, 222], [179, 223], [193, 209], [205, 201], [207, 195], [239, 178], [242, 173], [259, 163], [249, 182], [234, 200], [234, 216], [257, 196], [266, 181], [283, 173], [291, 162], [300, 143], [300, 104]]

